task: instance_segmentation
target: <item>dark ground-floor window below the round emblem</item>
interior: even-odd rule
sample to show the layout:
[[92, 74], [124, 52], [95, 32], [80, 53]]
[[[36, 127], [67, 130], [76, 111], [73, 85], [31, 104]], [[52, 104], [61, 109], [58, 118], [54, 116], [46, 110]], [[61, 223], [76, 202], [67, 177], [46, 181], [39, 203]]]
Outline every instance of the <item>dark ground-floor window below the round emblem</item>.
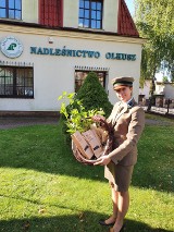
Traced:
[[0, 66], [0, 97], [33, 98], [33, 68]]

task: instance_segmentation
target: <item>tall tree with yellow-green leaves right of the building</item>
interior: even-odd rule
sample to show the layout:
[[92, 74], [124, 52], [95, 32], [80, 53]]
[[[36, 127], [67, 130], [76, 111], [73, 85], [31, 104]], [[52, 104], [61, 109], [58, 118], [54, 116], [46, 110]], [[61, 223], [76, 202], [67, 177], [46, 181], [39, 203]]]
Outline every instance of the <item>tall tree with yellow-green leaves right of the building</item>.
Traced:
[[166, 61], [167, 69], [173, 73], [174, 68], [174, 3], [173, 0], [135, 0], [136, 25], [139, 35], [147, 38], [142, 47], [141, 76], [152, 81], [151, 108], [156, 89], [156, 72], [162, 61]]

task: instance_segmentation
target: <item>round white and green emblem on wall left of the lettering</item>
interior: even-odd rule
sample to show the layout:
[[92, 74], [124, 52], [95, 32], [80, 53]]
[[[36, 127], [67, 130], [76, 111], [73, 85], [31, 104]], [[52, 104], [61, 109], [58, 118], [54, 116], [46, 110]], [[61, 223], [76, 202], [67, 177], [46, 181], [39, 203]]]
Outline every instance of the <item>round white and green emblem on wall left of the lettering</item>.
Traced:
[[1, 41], [0, 49], [5, 57], [17, 58], [23, 52], [23, 45], [15, 37], [8, 36]]

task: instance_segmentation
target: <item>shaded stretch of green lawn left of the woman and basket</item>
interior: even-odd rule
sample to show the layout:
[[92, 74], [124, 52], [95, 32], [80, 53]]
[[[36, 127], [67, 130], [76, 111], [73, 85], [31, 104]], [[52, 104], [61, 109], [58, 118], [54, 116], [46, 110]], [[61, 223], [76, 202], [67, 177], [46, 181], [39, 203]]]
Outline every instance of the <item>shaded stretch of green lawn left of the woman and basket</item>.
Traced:
[[0, 167], [103, 181], [103, 167], [79, 163], [58, 125], [0, 131]]

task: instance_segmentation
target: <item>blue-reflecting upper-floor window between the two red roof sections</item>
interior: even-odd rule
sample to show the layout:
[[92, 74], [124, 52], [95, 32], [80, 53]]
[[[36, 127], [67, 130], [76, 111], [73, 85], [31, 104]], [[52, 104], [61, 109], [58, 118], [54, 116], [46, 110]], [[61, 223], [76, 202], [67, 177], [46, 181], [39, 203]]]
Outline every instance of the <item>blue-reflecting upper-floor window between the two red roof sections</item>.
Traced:
[[86, 28], [102, 28], [103, 0], [79, 0], [78, 25]]

